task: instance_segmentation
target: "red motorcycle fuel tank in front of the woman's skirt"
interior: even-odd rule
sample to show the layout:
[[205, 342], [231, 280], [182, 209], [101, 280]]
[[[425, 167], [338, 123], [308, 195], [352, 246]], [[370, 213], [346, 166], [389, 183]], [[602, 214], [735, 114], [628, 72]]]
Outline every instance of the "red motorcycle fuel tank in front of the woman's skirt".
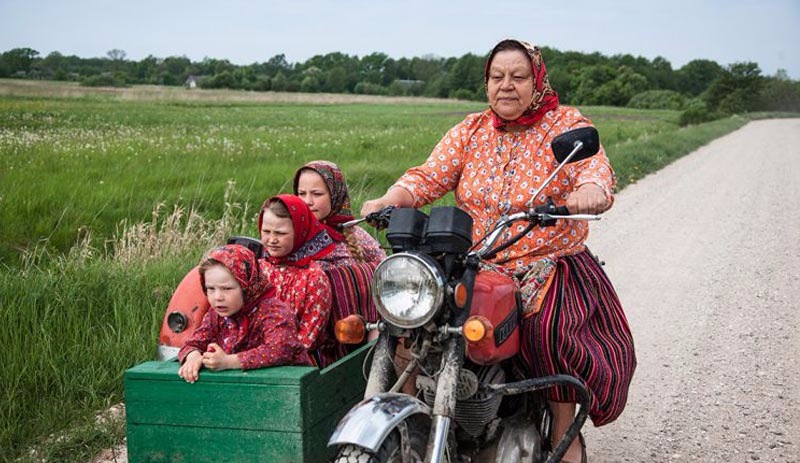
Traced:
[[484, 271], [475, 277], [470, 319], [480, 318], [486, 334], [477, 342], [467, 340], [467, 356], [473, 362], [488, 365], [519, 352], [516, 294], [517, 285], [508, 276]]

